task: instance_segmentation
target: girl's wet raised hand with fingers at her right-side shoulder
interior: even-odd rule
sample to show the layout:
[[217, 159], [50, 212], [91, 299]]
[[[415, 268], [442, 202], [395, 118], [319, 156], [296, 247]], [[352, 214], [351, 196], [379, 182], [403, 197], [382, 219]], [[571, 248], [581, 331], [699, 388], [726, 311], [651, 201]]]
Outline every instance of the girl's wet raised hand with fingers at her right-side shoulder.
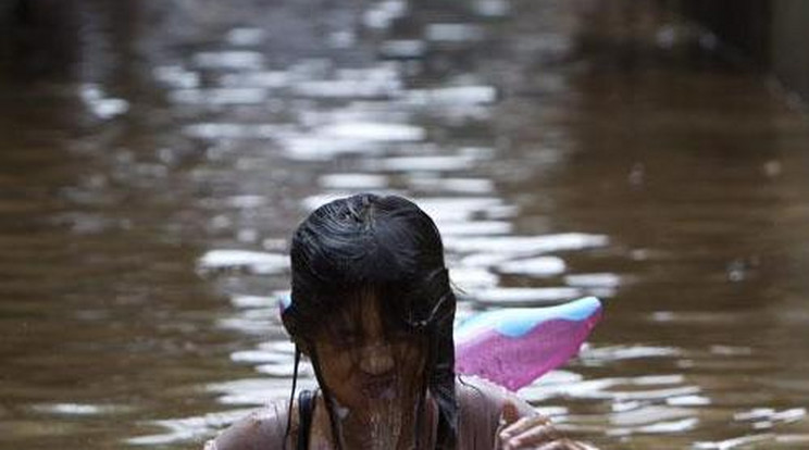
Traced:
[[506, 403], [497, 428], [499, 450], [594, 450], [589, 446], [564, 438], [548, 417], [520, 417], [516, 407]]

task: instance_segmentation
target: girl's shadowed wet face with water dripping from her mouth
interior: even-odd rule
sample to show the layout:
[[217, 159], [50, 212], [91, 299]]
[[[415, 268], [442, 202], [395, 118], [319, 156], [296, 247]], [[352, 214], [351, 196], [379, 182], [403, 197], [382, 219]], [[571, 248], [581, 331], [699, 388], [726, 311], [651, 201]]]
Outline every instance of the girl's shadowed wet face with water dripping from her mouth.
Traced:
[[424, 337], [386, 326], [373, 291], [334, 314], [315, 336], [321, 377], [339, 405], [369, 411], [379, 404], [415, 404], [423, 389], [426, 361]]

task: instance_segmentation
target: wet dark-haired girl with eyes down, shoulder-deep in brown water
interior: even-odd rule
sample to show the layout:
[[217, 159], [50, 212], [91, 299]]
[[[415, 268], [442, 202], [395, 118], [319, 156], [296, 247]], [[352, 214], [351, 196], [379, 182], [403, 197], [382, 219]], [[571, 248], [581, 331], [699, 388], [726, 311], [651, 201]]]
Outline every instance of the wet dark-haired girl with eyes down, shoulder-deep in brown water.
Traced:
[[[586, 450], [525, 401], [457, 376], [456, 297], [433, 221], [396, 196], [314, 211], [291, 241], [293, 397], [206, 450]], [[295, 398], [300, 354], [319, 389]]]

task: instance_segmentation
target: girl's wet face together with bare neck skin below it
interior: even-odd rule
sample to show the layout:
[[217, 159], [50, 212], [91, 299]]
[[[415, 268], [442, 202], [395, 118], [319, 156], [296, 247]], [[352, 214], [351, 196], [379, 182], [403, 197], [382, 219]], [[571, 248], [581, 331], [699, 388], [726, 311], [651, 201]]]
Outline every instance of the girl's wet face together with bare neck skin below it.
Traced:
[[[379, 308], [374, 292], [360, 292], [312, 342], [321, 379], [340, 411], [344, 448], [379, 448], [383, 440], [389, 448], [413, 446], [426, 342], [386, 326]], [[331, 433], [323, 433], [329, 430], [326, 408], [316, 411], [314, 448], [319, 440], [331, 440]]]

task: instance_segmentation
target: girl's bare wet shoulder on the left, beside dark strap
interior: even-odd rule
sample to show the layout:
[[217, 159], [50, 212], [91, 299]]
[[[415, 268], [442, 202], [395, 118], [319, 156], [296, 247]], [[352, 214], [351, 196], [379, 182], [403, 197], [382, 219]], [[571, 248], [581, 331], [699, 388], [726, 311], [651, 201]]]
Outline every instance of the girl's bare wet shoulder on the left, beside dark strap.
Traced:
[[282, 448], [286, 438], [287, 402], [253, 411], [206, 442], [204, 450], [259, 450]]

